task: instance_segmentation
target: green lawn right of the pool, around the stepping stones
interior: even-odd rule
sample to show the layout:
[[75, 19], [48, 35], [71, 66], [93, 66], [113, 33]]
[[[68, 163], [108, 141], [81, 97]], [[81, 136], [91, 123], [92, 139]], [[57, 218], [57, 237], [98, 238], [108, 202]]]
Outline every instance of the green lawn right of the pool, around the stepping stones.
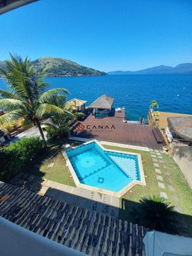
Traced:
[[[157, 179], [155, 175], [155, 167], [153, 167], [153, 161], [151, 158], [150, 152], [144, 152], [141, 150], [131, 150], [127, 148], [118, 148], [114, 146], [104, 145], [105, 148], [113, 149], [113, 150], [123, 150], [126, 152], [134, 152], [141, 154], [144, 173], [145, 173], [145, 181], [146, 186], [136, 185], [134, 188], [127, 192], [121, 198], [121, 210], [120, 210], [120, 219], [128, 220], [130, 219], [129, 211], [132, 206], [137, 205], [140, 198], [147, 194], [159, 194], [160, 191], [166, 192], [168, 195], [168, 202], [172, 205], [178, 205], [183, 210], [183, 215], [180, 215], [182, 219], [185, 219], [187, 223], [187, 233], [189, 236], [192, 236], [192, 191], [189, 187], [189, 184], [185, 180], [182, 171], [175, 163], [175, 161], [170, 158], [167, 154], [161, 154], [163, 160], [166, 165], [166, 169], [161, 167], [161, 176], [163, 177], [163, 182], [165, 184], [166, 189], [160, 189], [157, 184]], [[165, 174], [165, 171], [168, 171], [170, 176]], [[168, 190], [168, 184], [172, 185], [175, 188], [175, 192]], [[178, 202], [172, 200], [172, 196], [176, 195], [179, 198]], [[185, 232], [185, 229], [183, 229]]]

